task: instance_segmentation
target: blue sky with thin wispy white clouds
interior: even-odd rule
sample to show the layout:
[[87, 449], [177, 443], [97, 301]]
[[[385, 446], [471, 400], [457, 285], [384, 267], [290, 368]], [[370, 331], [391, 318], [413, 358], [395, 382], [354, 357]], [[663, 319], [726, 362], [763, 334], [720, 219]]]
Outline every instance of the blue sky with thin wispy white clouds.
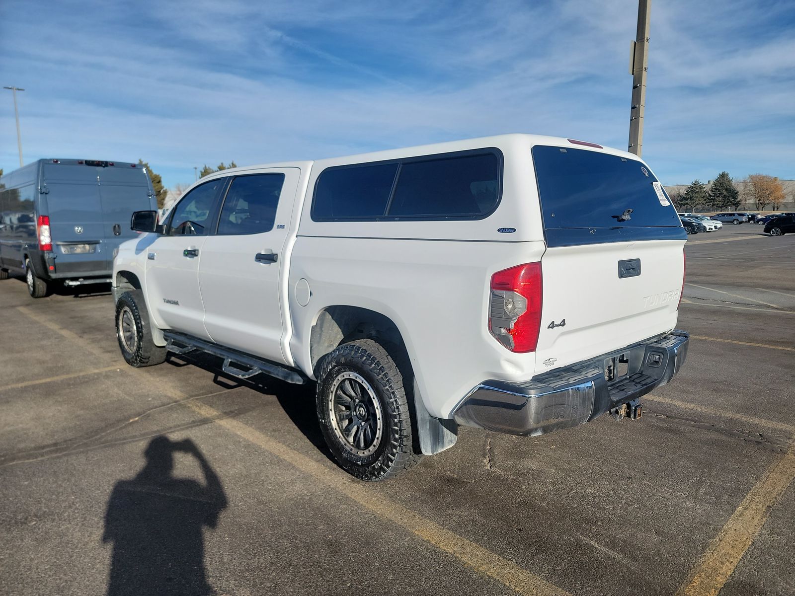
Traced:
[[[319, 159], [508, 132], [626, 148], [636, 0], [0, 2], [25, 162]], [[795, 178], [795, 2], [655, 0], [643, 157]], [[10, 91], [0, 167], [18, 164]]]

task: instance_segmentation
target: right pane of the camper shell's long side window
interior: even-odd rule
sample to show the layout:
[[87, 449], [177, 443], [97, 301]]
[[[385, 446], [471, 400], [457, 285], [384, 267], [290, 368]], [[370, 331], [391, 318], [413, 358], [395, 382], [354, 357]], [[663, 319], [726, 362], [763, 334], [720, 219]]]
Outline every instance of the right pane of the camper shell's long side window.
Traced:
[[402, 165], [387, 217], [477, 217], [497, 204], [494, 153]]

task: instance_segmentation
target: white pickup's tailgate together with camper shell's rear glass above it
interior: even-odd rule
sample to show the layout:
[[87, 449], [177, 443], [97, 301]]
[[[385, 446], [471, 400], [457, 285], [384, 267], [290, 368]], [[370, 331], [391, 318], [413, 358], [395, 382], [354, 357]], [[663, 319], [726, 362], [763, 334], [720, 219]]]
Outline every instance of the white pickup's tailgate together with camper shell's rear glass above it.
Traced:
[[547, 244], [536, 372], [671, 331], [686, 235], [648, 166], [591, 149], [532, 153]]

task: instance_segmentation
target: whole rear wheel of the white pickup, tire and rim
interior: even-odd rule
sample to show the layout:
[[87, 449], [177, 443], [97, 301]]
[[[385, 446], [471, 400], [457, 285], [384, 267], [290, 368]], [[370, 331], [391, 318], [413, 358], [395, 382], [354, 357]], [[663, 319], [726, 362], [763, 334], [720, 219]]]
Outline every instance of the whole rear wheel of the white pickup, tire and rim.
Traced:
[[349, 474], [386, 480], [420, 459], [412, 449], [408, 381], [381, 344], [357, 339], [337, 347], [317, 379], [320, 429]]

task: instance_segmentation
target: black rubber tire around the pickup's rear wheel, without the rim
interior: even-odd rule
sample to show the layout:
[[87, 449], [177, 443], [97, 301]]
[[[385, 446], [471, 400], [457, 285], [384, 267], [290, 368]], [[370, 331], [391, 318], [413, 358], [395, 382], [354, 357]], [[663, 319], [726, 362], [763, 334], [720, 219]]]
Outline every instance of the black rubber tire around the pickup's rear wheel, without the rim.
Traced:
[[[346, 374], [358, 375], [366, 381], [380, 404], [381, 438], [378, 447], [368, 455], [352, 453], [350, 443], [346, 447], [345, 439], [339, 435], [341, 431], [332, 423], [333, 389], [335, 383], [340, 386], [339, 378]], [[317, 380], [320, 429], [335, 459], [349, 474], [370, 482], [386, 480], [421, 458], [412, 448], [411, 414], [404, 386], [411, 379], [404, 379], [384, 346], [372, 339], [357, 339], [338, 346], [324, 358]]]

